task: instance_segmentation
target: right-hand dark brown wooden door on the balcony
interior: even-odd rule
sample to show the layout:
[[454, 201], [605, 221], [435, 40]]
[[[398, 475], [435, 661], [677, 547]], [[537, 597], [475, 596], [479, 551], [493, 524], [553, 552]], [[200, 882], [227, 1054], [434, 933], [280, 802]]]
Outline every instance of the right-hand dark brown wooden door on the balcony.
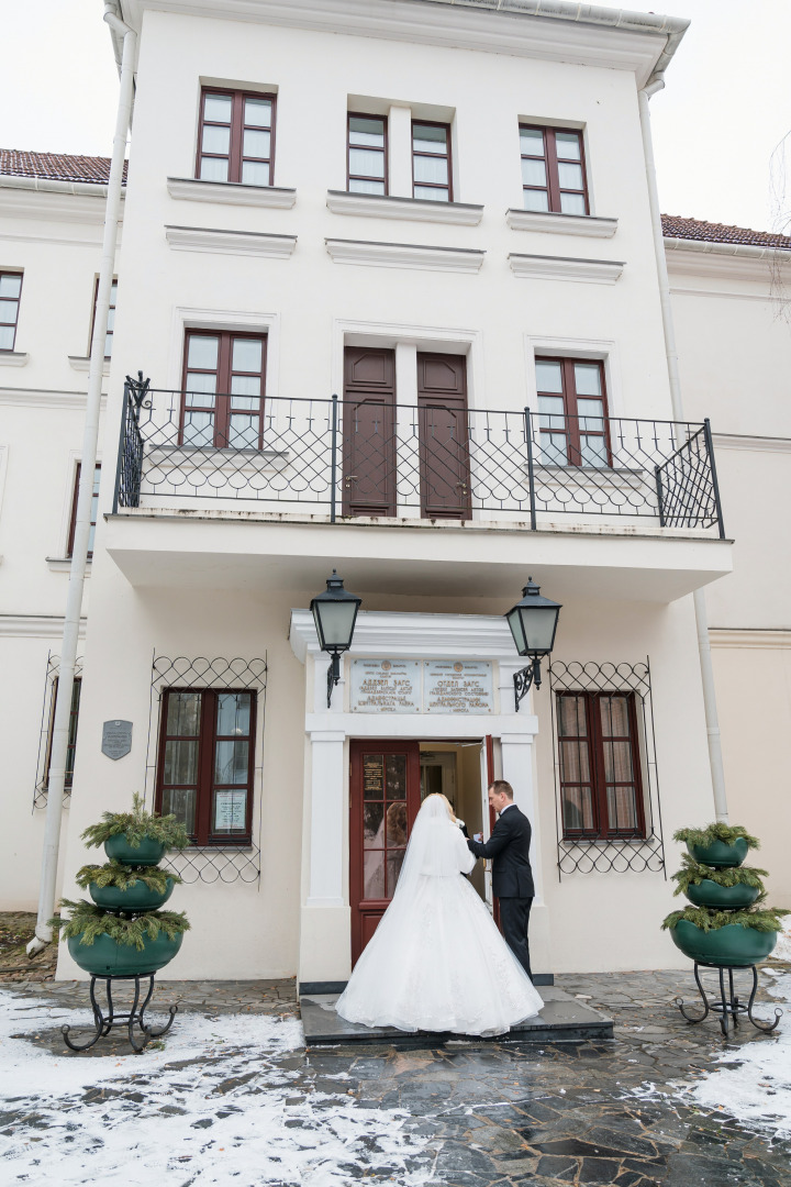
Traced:
[[467, 361], [417, 355], [420, 504], [427, 519], [470, 519]]

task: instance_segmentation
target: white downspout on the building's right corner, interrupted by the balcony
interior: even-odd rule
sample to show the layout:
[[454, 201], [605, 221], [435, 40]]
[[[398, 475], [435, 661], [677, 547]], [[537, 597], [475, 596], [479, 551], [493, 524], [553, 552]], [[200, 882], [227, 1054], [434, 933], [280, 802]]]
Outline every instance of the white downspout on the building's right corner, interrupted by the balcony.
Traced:
[[[665, 356], [668, 360], [668, 379], [670, 381], [670, 399], [675, 420], [685, 420], [684, 405], [678, 376], [678, 350], [676, 331], [670, 307], [670, 280], [668, 261], [662, 234], [662, 214], [659, 211], [659, 192], [657, 189], [656, 163], [653, 159], [653, 141], [651, 138], [651, 112], [649, 100], [664, 87], [664, 81], [653, 78], [638, 93], [640, 108], [640, 131], [643, 133], [643, 151], [645, 157], [645, 176], [649, 186], [651, 207], [651, 229], [653, 233], [653, 253], [659, 281], [659, 303], [662, 306], [662, 328], [664, 331]], [[717, 820], [728, 823], [728, 798], [725, 786], [725, 766], [722, 763], [722, 738], [716, 710], [716, 692], [714, 686], [714, 668], [712, 665], [712, 645], [709, 641], [708, 614], [703, 590], [693, 594], [695, 603], [695, 626], [697, 629], [697, 653], [701, 664], [701, 685], [703, 690], [703, 710], [706, 713], [706, 734], [708, 737], [709, 767], [712, 770], [712, 791], [714, 793], [714, 813]]]

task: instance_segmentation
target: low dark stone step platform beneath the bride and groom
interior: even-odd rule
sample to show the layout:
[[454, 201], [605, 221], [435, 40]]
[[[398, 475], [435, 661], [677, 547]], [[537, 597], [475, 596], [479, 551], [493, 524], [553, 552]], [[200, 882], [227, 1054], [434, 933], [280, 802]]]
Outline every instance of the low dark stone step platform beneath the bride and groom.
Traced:
[[[612, 1039], [612, 1018], [586, 1005], [556, 985], [537, 985], [544, 999], [541, 1014], [525, 1018], [506, 1035], [481, 1039], [471, 1035], [470, 1042], [569, 1042], [585, 1039]], [[304, 994], [299, 1005], [302, 1015], [306, 1047], [347, 1045], [439, 1047], [446, 1042], [465, 1041], [464, 1035], [419, 1030], [412, 1034], [395, 1027], [364, 1027], [346, 1022], [336, 1014], [339, 994]]]

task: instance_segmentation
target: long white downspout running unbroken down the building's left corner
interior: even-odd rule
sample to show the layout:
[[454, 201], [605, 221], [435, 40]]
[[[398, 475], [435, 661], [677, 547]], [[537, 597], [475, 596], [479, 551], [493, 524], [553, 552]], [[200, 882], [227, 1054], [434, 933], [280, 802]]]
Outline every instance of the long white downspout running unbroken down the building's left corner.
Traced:
[[82, 612], [83, 590], [85, 585], [85, 567], [88, 563], [88, 544], [90, 538], [90, 507], [94, 490], [94, 471], [96, 469], [96, 445], [98, 440], [98, 419], [102, 399], [102, 372], [107, 342], [107, 316], [110, 307], [113, 273], [115, 269], [115, 248], [119, 236], [119, 215], [121, 212], [121, 195], [123, 188], [123, 161], [126, 157], [127, 132], [132, 113], [132, 95], [134, 87], [134, 58], [136, 36], [115, 13], [110, 4], [104, 6], [104, 20], [123, 37], [121, 55], [121, 85], [113, 139], [113, 158], [107, 186], [107, 205], [104, 212], [104, 235], [102, 241], [102, 259], [98, 272], [98, 291], [96, 296], [96, 316], [94, 318], [94, 336], [90, 347], [90, 364], [88, 369], [88, 395], [85, 400], [85, 421], [83, 427], [79, 489], [77, 493], [77, 514], [75, 519], [75, 537], [69, 573], [69, 590], [63, 622], [63, 641], [60, 645], [60, 669], [52, 725], [52, 748], [50, 756], [50, 777], [46, 802], [46, 820], [44, 824], [44, 853], [42, 859], [42, 882], [39, 888], [38, 919], [36, 934], [27, 945], [27, 954], [36, 956], [52, 940], [52, 928], [47, 920], [55, 914], [55, 899], [58, 874], [58, 852], [60, 848], [60, 825], [63, 818], [63, 793], [66, 776], [66, 756], [69, 748], [69, 717], [71, 694], [75, 680], [75, 665], [79, 636], [79, 616]]

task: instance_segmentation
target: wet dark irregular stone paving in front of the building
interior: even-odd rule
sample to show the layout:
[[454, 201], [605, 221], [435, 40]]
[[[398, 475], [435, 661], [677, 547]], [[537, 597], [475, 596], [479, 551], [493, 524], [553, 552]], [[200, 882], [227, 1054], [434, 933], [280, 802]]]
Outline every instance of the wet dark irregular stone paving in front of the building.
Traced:
[[[789, 971], [787, 965], [784, 971]], [[771, 984], [766, 973], [761, 980]], [[152, 1043], [158, 1052], [158, 1071], [151, 1067], [149, 1053], [125, 1062], [128, 1073], [121, 1083], [114, 1081], [110, 1096], [117, 1098], [119, 1106], [126, 1099], [127, 1105], [136, 1102], [134, 1107], [140, 1107], [158, 1077], [173, 1074], [176, 1069], [189, 1080], [191, 1072], [199, 1071], [202, 1084], [208, 1080], [213, 1086], [202, 1098], [204, 1112], [190, 1123], [192, 1132], [196, 1126], [222, 1124], [229, 1109], [244, 1113], [260, 1107], [266, 1092], [275, 1091], [267, 1090], [267, 1083], [287, 1084], [287, 1090], [278, 1088], [286, 1091], [281, 1110], [286, 1117], [283, 1132], [294, 1136], [293, 1131], [304, 1130], [300, 1142], [306, 1134], [310, 1141], [315, 1141], [323, 1125], [337, 1128], [338, 1110], [349, 1118], [349, 1125], [356, 1117], [365, 1118], [365, 1134], [346, 1140], [347, 1161], [338, 1161], [333, 1155], [334, 1169], [325, 1168], [324, 1178], [315, 1167], [287, 1170], [285, 1156], [280, 1179], [276, 1168], [250, 1176], [244, 1169], [235, 1173], [206, 1169], [205, 1162], [199, 1161], [194, 1167], [202, 1169], [187, 1174], [190, 1160], [198, 1159], [197, 1154], [187, 1153], [184, 1173], [174, 1178], [168, 1174], [164, 1180], [179, 1187], [225, 1182], [238, 1187], [259, 1183], [291, 1187], [351, 1185], [361, 1180], [447, 1187], [791, 1185], [791, 1143], [772, 1141], [765, 1131], [741, 1125], [722, 1107], [701, 1109], [685, 1100], [683, 1091], [684, 1085], [694, 1084], [712, 1069], [725, 1050], [733, 1050], [742, 1042], [771, 1043], [776, 1039], [759, 1036], [751, 1026], [742, 1024], [726, 1041], [712, 1016], [697, 1027], [684, 1023], [672, 1003], [677, 995], [694, 1001], [691, 967], [685, 972], [563, 976], [557, 984], [579, 1002], [612, 1017], [614, 1039], [546, 1045], [451, 1040], [415, 1050], [397, 1050], [387, 1043], [364, 1049], [358, 1045], [338, 1045], [308, 1053], [275, 1050], [266, 1060], [270, 1075], [266, 1081], [261, 1078], [260, 1055], [245, 1050], [244, 1042], [238, 1040], [243, 1028], [242, 1032], [237, 1028], [236, 1041], [230, 1041], [219, 1054], [192, 1053], [178, 1062], [161, 1062], [167, 1058], [170, 1036]], [[27, 980], [6, 983], [4, 988], [13, 992], [23, 1014], [26, 997], [51, 1002], [56, 1008], [84, 1005], [88, 999], [85, 985], [74, 982]], [[187, 1027], [189, 1020], [194, 1024], [202, 1018], [210, 1020], [222, 1032], [229, 1015], [283, 1020], [298, 1016], [293, 980], [161, 982], [152, 1003], [152, 1021], [158, 1013], [161, 1017], [161, 1009], [172, 1002], [179, 1003], [173, 1034], [179, 1026]], [[770, 1002], [761, 990], [759, 1016], [772, 1016]], [[791, 1016], [782, 1020], [780, 1027], [784, 1026], [791, 1026]], [[65, 1053], [56, 1026], [39, 1024], [32, 1034], [23, 1027], [17, 1034], [25, 1034], [39, 1050], [58, 1056]], [[101, 1040], [87, 1055], [69, 1059], [117, 1060], [128, 1050], [123, 1039], [114, 1035]], [[166, 1102], [157, 1104], [157, 1110], [189, 1113], [192, 1105], [187, 1088], [189, 1085], [177, 1083], [174, 1090], [168, 1090], [171, 1096]], [[108, 1107], [107, 1093], [106, 1087], [95, 1090], [93, 1099], [102, 1109]], [[81, 1106], [90, 1104], [88, 1090]], [[40, 1136], [42, 1130], [34, 1132], [37, 1125], [45, 1131], [57, 1124], [46, 1110], [37, 1121], [31, 1098], [20, 1100], [18, 1107], [13, 1102], [4, 1107], [0, 1137], [27, 1141], [31, 1134], [33, 1138]], [[391, 1134], [387, 1141], [382, 1136], [390, 1116], [400, 1118], [395, 1147]], [[205, 1151], [202, 1156], [209, 1157]], [[218, 1160], [222, 1162], [223, 1157]], [[225, 1173], [229, 1178], [223, 1178]], [[12, 1175], [6, 1181], [32, 1182], [34, 1178]], [[91, 1180], [88, 1176], [66, 1181]]]

